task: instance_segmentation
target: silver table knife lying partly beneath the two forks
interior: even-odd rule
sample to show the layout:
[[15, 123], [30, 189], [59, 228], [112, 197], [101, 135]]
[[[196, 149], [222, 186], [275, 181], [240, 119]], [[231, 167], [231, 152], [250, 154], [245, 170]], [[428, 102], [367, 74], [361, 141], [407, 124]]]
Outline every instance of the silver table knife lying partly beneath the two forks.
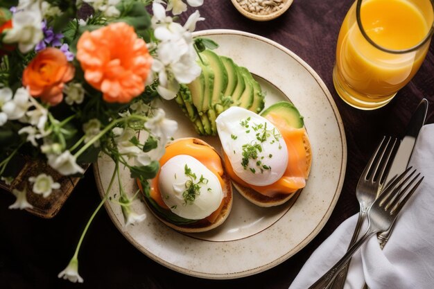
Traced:
[[[385, 179], [385, 184], [387, 184], [390, 179], [406, 170], [408, 162], [410, 161], [410, 157], [413, 153], [413, 148], [415, 147], [419, 131], [425, 123], [426, 112], [428, 112], [428, 100], [423, 98], [413, 113], [413, 116], [411, 116], [410, 121], [408, 122], [406, 135], [399, 144], [399, 148], [396, 155], [394, 156], [392, 166], [390, 166], [390, 170]], [[388, 242], [390, 234], [392, 234], [393, 227], [394, 224], [390, 226], [388, 231], [384, 231], [378, 235], [381, 249], [383, 249], [385, 243]], [[366, 284], [363, 286], [363, 289], [367, 289]]]

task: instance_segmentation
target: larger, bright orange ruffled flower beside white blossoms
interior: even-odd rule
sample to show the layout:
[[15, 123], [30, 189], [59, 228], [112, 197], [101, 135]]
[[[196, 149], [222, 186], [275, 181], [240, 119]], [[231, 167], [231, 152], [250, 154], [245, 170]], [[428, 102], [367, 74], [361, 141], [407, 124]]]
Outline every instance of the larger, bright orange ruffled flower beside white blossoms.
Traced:
[[128, 103], [145, 89], [152, 57], [134, 28], [117, 22], [86, 31], [77, 44], [85, 79], [108, 103]]

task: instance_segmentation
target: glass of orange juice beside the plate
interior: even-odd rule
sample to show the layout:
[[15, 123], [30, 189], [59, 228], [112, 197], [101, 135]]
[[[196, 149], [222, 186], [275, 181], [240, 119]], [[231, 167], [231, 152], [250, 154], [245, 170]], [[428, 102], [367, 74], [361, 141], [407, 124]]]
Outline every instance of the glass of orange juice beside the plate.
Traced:
[[346, 103], [374, 110], [415, 75], [434, 31], [434, 0], [356, 0], [340, 28], [333, 84]]

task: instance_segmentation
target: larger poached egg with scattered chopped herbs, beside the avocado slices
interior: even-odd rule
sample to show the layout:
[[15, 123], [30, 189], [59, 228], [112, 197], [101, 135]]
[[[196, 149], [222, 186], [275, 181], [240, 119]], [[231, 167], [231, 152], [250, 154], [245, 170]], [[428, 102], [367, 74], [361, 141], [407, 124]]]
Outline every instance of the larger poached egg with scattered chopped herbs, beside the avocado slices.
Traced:
[[254, 186], [267, 186], [284, 175], [288, 150], [279, 130], [242, 107], [229, 107], [216, 119], [218, 137], [234, 173]]

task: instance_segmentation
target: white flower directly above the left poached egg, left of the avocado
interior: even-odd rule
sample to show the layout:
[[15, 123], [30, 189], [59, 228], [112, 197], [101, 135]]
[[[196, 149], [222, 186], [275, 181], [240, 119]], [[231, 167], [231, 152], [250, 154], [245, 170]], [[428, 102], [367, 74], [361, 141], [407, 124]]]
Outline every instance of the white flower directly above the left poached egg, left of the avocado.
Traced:
[[148, 119], [145, 123], [145, 128], [150, 130], [152, 134], [159, 137], [162, 143], [166, 143], [177, 130], [177, 122], [166, 119], [164, 110], [158, 109], [155, 111], [153, 118]]

